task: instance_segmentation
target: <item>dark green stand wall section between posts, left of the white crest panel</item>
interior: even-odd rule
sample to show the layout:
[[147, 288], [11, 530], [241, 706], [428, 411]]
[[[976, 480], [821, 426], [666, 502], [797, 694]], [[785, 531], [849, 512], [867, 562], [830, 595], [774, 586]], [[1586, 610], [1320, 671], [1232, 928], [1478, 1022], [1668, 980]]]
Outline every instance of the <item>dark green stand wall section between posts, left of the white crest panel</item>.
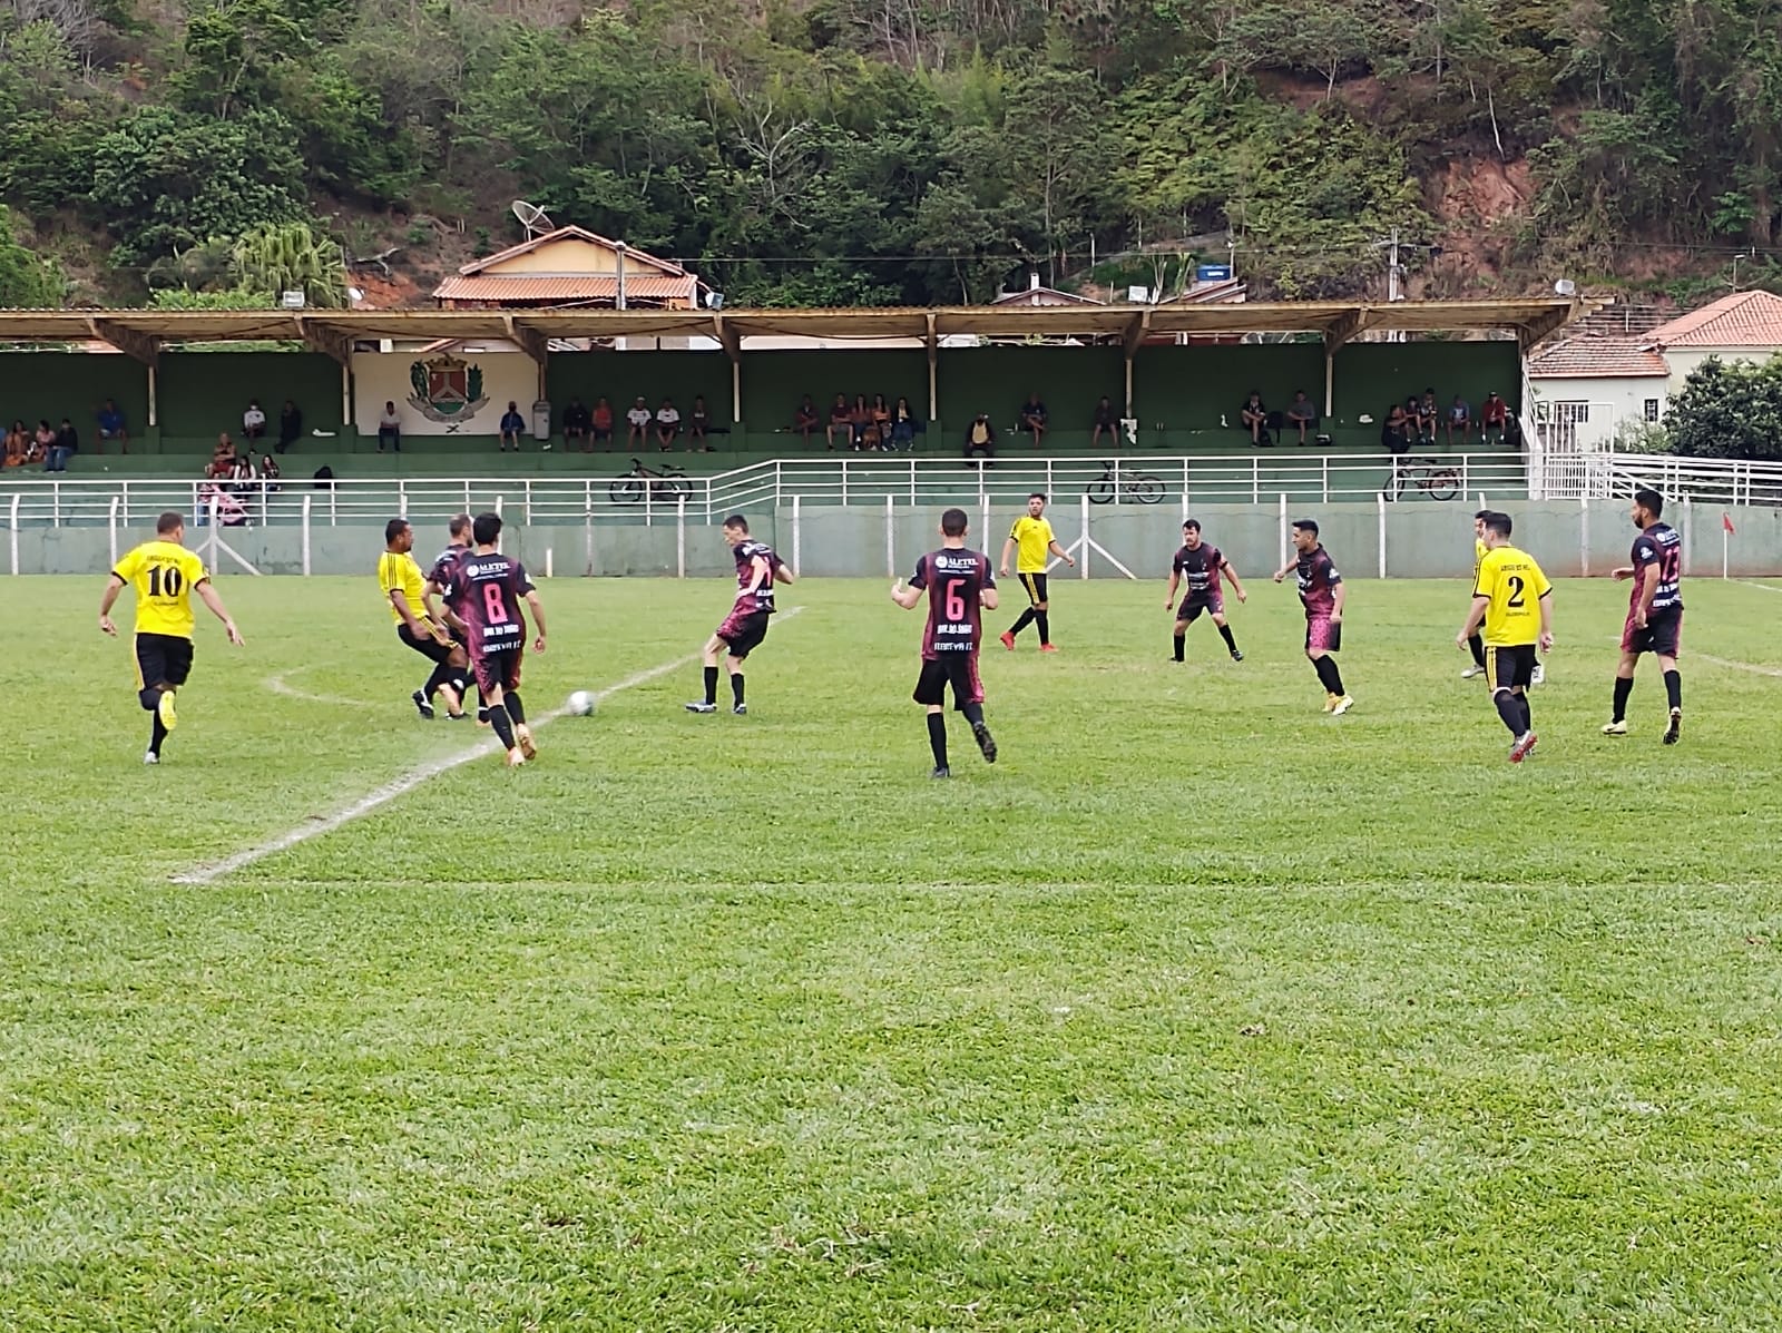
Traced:
[[241, 437], [241, 413], [258, 397], [267, 438], [278, 438], [278, 410], [294, 399], [303, 428], [340, 429], [340, 367], [310, 351], [169, 351], [157, 374], [160, 433], [175, 440]]

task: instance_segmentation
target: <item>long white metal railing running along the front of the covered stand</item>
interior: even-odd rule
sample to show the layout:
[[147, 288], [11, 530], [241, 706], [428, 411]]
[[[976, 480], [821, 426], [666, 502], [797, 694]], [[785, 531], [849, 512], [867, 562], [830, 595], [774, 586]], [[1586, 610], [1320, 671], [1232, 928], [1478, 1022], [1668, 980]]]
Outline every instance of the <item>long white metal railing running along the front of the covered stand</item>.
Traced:
[[[661, 469], [650, 460], [650, 467]], [[1237, 456], [998, 458], [868, 454], [781, 458], [716, 476], [608, 478], [335, 478], [235, 483], [225, 490], [249, 524], [317, 526], [383, 522], [405, 515], [446, 520], [460, 511], [497, 510], [520, 522], [675, 520], [681, 501], [695, 522], [732, 511], [789, 504], [907, 506], [1019, 504], [1042, 490], [1059, 503], [1080, 495], [1094, 504], [1263, 504], [1283, 492], [1294, 503], [1458, 499], [1479, 492], [1520, 494], [1527, 463], [1515, 453], [1324, 454], [1281, 447]], [[121, 522], [141, 526], [162, 510], [200, 513], [210, 483], [201, 479], [23, 478], [0, 481], [0, 497], [18, 526]], [[114, 506], [116, 501], [116, 506]], [[233, 506], [226, 506], [233, 508]]]

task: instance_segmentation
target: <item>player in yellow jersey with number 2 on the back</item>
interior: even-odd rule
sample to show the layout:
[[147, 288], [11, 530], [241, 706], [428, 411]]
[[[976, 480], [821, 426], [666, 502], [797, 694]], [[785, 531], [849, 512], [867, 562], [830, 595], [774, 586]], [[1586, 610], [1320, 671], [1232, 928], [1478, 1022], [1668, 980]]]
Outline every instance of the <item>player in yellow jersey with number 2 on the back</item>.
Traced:
[[1525, 551], [1509, 545], [1508, 513], [1484, 517], [1484, 560], [1472, 586], [1472, 611], [1454, 643], [1461, 649], [1484, 624], [1484, 677], [1492, 686], [1492, 704], [1515, 736], [1509, 763], [1520, 765], [1534, 748], [1534, 716], [1529, 711], [1529, 683], [1534, 679], [1534, 654], [1554, 645], [1552, 585]]

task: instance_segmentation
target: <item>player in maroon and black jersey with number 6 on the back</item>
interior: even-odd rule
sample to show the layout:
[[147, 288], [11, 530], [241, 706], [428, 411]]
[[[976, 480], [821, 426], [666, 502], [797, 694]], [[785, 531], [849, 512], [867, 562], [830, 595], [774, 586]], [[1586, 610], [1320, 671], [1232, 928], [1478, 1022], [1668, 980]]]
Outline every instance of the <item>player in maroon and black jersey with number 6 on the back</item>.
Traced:
[[952, 777], [946, 766], [946, 686], [953, 686], [953, 707], [971, 724], [971, 738], [985, 763], [996, 763], [996, 741], [984, 725], [984, 681], [978, 679], [978, 642], [984, 638], [982, 611], [996, 609], [996, 576], [991, 558], [966, 549], [966, 511], [941, 515], [941, 549], [916, 561], [909, 586], [891, 585], [891, 601], [914, 611], [928, 595], [928, 620], [921, 629], [921, 675], [914, 699], [928, 709], [928, 747], [934, 773]]

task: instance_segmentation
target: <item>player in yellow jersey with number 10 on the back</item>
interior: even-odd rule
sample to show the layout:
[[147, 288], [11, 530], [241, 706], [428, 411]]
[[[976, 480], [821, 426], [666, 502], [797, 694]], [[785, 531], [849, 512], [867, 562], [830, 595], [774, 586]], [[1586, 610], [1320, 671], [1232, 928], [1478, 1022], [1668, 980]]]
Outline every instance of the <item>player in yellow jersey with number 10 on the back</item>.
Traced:
[[143, 763], [159, 765], [168, 732], [180, 725], [173, 697], [192, 674], [192, 593], [223, 622], [228, 642], [241, 647], [241, 631], [210, 586], [210, 572], [185, 549], [185, 519], [175, 511], [155, 520], [155, 540], [118, 561], [100, 599], [100, 629], [118, 638], [110, 609], [127, 586], [135, 590], [135, 690], [153, 718]]

